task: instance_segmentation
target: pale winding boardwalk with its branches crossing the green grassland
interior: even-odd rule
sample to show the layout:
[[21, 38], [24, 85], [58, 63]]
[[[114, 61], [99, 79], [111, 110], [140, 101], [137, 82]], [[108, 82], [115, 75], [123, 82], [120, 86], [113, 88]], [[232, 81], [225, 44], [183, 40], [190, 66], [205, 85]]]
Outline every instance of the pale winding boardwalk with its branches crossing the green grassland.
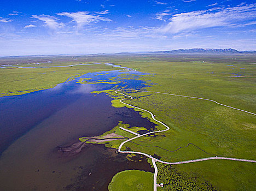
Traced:
[[[185, 164], [185, 163], [195, 163], [195, 162], [200, 162], [200, 161], [205, 161], [205, 160], [213, 160], [213, 159], [236, 160], [236, 161], [241, 161], [241, 162], [256, 163], [256, 160], [239, 159], [239, 158], [228, 158], [228, 157], [217, 157], [217, 156], [216, 156], [216, 157], [208, 157], [208, 158], [193, 159], [193, 160], [185, 160], [185, 161], [181, 161], [181, 162], [173, 162], [173, 163], [172, 163], [172, 162], [165, 162], [165, 161], [156, 159], [156, 158], [152, 157], [150, 154], [146, 154], [146, 153], [142, 153], [142, 152], [137, 152], [137, 151], [121, 151], [121, 148], [123, 147], [123, 145], [124, 145], [126, 142], [129, 142], [129, 141], [131, 141], [131, 140], [133, 140], [133, 139], [137, 139], [137, 138], [140, 138], [141, 136], [149, 135], [149, 134], [152, 134], [152, 133], [166, 132], [167, 130], [170, 129], [170, 127], [168, 127], [165, 123], [162, 123], [161, 121], [156, 120], [156, 119], [155, 119], [155, 116], [152, 114], [152, 112], [150, 112], [150, 111], [148, 111], [148, 110], [145, 110], [145, 109], [142, 109], [142, 108], [138, 108], [138, 107], [133, 106], [133, 105], [130, 105], [130, 104], [124, 103], [123, 100], [130, 100], [130, 99], [133, 99], [133, 98], [132, 98], [132, 96], [126, 95], [126, 94], [124, 94], [124, 93], [120, 93], [119, 91], [121, 91], [121, 90], [123, 90], [123, 89], [119, 89], [119, 90], [115, 91], [115, 93], [117, 93], [117, 94], [122, 94], [122, 95], [125, 96], [125, 97], [129, 97], [128, 99], [125, 99], [125, 98], [124, 98], [124, 99], [121, 99], [121, 100], [120, 100], [121, 103], [123, 103], [123, 104], [125, 104], [125, 105], [128, 105], [128, 106], [130, 106], [130, 107], [132, 107], [132, 108], [137, 108], [137, 109], [139, 109], [139, 110], [148, 112], [148, 113], [152, 116], [152, 118], [153, 118], [154, 121], [156, 121], [156, 122], [158, 122], [158, 123], [161, 123], [163, 126], [166, 127], [166, 129], [164, 129], [164, 130], [158, 130], [158, 131], [155, 131], [155, 132], [149, 132], [149, 133], [145, 133], [145, 134], [142, 134], [142, 135], [135, 136], [135, 137], [133, 137], [133, 138], [131, 138], [131, 139], [128, 139], [128, 140], [122, 142], [122, 143], [119, 145], [119, 147], [118, 147], [118, 152], [120, 152], [120, 153], [142, 154], [142, 155], [144, 155], [144, 156], [149, 157], [149, 158], [152, 159], [152, 163], [153, 163], [154, 168], [155, 168], [155, 174], [154, 174], [154, 191], [156, 190], [156, 176], [157, 176], [157, 173], [158, 173], [157, 166], [155, 165], [155, 161], [160, 162], [160, 163], [164, 163], [164, 164], [172, 164], [172, 165], [174, 165], [174, 164]], [[141, 91], [136, 90], [136, 89], [132, 89], [132, 90], [141, 92]], [[149, 91], [143, 91], [143, 92], [149, 92]], [[153, 92], [153, 93], [161, 93], [161, 92]], [[171, 96], [180, 96], [180, 95], [169, 94], [169, 93], [161, 93], [161, 94], [168, 94], [168, 95], [171, 95]], [[219, 104], [219, 105], [223, 105], [223, 106], [226, 106], [226, 107], [228, 107], [228, 108], [232, 108], [231, 106], [224, 105], [224, 104], [220, 104], [220, 103], [218, 103], [218, 102], [216, 102], [216, 101], [214, 101], [214, 100], [211, 100], [211, 99], [204, 99], [204, 98], [197, 98], [197, 97], [190, 97], [190, 96], [180, 96], [180, 97], [188, 97], [188, 98], [196, 98], [196, 99], [208, 100], [208, 101], [217, 103], [217, 104]], [[237, 108], [232, 108], [232, 109], [240, 110], [240, 109], [237, 109]], [[249, 113], [249, 114], [253, 114], [252, 112], [248, 112], [248, 111], [245, 111], [245, 110], [240, 110], [240, 111], [244, 111], [244, 112], [247, 112], [247, 113]], [[253, 114], [253, 115], [256, 115], [256, 114]], [[121, 128], [121, 129], [123, 129], [123, 128]], [[125, 129], [125, 130], [127, 130], [127, 129]]]

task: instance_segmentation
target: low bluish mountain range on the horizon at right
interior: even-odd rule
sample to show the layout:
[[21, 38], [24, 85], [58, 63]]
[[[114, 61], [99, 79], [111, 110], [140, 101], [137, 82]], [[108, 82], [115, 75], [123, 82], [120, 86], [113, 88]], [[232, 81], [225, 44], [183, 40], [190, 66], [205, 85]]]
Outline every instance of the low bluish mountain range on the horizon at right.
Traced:
[[256, 54], [256, 51], [237, 51], [235, 49], [178, 49], [178, 50], [166, 50], [166, 51], [156, 51], [149, 53], [205, 53], [205, 54], [240, 54], [240, 53], [249, 53]]

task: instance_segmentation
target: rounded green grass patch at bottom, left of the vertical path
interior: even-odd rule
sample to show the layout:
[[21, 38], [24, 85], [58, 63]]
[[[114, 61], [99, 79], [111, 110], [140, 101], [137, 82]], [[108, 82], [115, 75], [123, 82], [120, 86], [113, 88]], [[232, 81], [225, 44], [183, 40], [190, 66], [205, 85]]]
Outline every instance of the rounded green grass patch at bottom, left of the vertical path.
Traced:
[[153, 190], [153, 173], [141, 170], [118, 172], [118, 174], [112, 178], [108, 190]]

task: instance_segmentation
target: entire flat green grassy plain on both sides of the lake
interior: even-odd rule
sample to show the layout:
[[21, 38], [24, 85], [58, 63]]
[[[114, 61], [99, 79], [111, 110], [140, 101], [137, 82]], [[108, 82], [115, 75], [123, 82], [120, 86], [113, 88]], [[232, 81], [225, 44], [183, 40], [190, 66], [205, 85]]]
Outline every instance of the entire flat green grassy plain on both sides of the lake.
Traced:
[[[141, 78], [150, 83], [150, 86], [146, 88], [148, 91], [207, 98], [238, 109], [256, 112], [255, 55], [98, 55], [75, 59], [80, 59], [79, 62], [83, 61], [83, 63], [115, 63], [150, 73], [152, 75]], [[58, 62], [62, 61], [51, 64], [58, 64]], [[72, 63], [79, 62], [72, 60]], [[112, 69], [109, 67], [105, 69], [103, 65], [37, 68], [35, 70], [0, 69], [1, 93], [48, 88], [67, 80], [68, 77], [87, 73], [89, 72], [86, 71], [88, 68], [91, 69], [91, 72]], [[57, 72], [57, 70], [61, 71]], [[26, 75], [24, 81], [19, 80], [20, 71]], [[40, 74], [37, 74], [37, 71], [40, 71]], [[53, 71], [56, 72], [53, 73]], [[45, 72], [49, 75], [48, 77], [44, 77], [45, 74], [42, 74]], [[30, 76], [33, 76], [31, 84]], [[125, 73], [121, 77], [125, 79]], [[4, 83], [5, 81], [6, 83]], [[124, 145], [129, 146], [131, 150], [157, 154], [162, 160], [170, 162], [216, 155], [256, 159], [255, 116], [205, 100], [150, 92], [123, 92], [137, 98], [126, 100], [126, 103], [152, 111], [158, 120], [171, 127], [168, 132], [157, 134], [156, 137], [147, 136], [134, 140], [137, 144], [148, 147], [132, 143]], [[19, 94], [21, 93], [19, 92]], [[113, 91], [110, 94], [114, 98], [113, 106], [124, 106], [118, 100], [123, 97], [115, 95]], [[147, 114], [144, 117], [148, 117]], [[115, 130], [120, 129], [113, 129], [113, 131]], [[118, 133], [122, 134], [122, 132]], [[133, 136], [127, 132], [123, 133]], [[119, 142], [121, 141], [111, 141], [107, 145], [117, 147]], [[179, 147], [187, 146], [190, 142], [210, 154], [193, 145], [175, 152], [161, 149], [174, 151]], [[220, 190], [254, 190], [256, 187], [256, 165], [251, 163], [210, 160], [176, 165], [172, 168], [174, 168], [175, 176], [180, 175], [176, 179], [178, 181], [176, 183], [184, 185], [184, 190], [186, 184], [182, 182], [188, 182], [195, 177], [197, 182], [208, 182], [212, 188]], [[173, 176], [163, 170], [158, 178], [161, 177], [165, 177], [166, 181], [171, 181]], [[116, 182], [123, 183], [124, 181]], [[200, 187], [199, 184], [199, 188], [203, 189], [203, 186]]]

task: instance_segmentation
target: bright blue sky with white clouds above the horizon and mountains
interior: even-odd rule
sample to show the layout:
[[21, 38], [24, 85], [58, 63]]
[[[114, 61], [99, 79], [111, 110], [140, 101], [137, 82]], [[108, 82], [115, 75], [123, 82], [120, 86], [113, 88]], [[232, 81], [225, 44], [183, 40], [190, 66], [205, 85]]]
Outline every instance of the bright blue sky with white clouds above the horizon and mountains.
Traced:
[[0, 10], [0, 56], [256, 50], [255, 1], [1, 0]]

